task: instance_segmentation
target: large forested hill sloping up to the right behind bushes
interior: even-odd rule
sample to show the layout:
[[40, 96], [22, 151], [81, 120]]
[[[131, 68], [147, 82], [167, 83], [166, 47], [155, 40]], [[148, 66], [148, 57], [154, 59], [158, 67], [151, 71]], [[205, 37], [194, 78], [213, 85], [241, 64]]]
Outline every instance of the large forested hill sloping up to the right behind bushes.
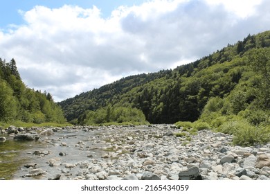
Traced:
[[129, 76], [60, 105], [67, 120], [79, 124], [87, 123], [91, 111], [108, 106], [140, 109], [150, 123], [196, 121], [213, 97], [228, 102], [224, 114], [267, 111], [269, 58], [270, 31], [266, 31], [190, 64]]

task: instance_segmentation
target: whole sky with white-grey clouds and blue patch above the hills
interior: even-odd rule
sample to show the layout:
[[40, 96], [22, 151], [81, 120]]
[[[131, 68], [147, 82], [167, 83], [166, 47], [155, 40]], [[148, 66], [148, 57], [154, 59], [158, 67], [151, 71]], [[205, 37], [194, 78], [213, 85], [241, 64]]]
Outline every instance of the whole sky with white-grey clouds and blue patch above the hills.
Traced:
[[270, 30], [268, 0], [9, 0], [0, 58], [55, 101], [173, 69]]

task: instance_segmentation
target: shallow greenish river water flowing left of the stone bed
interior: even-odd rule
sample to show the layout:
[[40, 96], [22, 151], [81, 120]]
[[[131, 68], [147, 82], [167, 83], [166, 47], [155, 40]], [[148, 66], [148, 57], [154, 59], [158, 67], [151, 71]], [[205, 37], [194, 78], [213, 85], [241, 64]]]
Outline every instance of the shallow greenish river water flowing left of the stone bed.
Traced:
[[[87, 156], [100, 158], [105, 141], [93, 141], [91, 137], [98, 136], [97, 131], [84, 132], [60, 131], [51, 136], [42, 136], [41, 141], [14, 141], [6, 136], [6, 141], [0, 142], [0, 179], [48, 179], [46, 176], [25, 177], [28, 173], [26, 164], [37, 164], [37, 168], [46, 170], [48, 175], [60, 172], [60, 168], [48, 166], [48, 161], [60, 158], [62, 162], [76, 164], [89, 159]], [[3, 135], [2, 135], [3, 136]], [[79, 141], [84, 143], [80, 148]], [[61, 143], [66, 143], [61, 146]], [[33, 154], [35, 151], [41, 155]], [[64, 156], [60, 156], [63, 153]]]

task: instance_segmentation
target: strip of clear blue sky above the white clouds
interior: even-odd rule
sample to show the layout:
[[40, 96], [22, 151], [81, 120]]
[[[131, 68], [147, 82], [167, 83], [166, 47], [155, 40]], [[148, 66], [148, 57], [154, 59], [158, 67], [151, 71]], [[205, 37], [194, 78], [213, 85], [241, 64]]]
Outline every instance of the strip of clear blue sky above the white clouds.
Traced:
[[23, 24], [19, 10], [28, 11], [35, 6], [46, 6], [48, 8], [60, 8], [64, 5], [80, 6], [82, 8], [98, 7], [102, 17], [109, 17], [111, 11], [119, 6], [139, 5], [145, 0], [8, 0], [1, 1], [0, 6], [0, 28], [6, 28], [10, 24]]

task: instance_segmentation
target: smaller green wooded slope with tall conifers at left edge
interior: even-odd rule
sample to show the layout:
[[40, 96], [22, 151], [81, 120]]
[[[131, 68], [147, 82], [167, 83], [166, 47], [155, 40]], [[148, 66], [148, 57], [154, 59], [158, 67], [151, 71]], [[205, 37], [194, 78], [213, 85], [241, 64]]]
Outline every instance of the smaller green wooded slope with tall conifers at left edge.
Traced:
[[64, 123], [66, 119], [50, 93], [24, 85], [14, 59], [0, 58], [0, 122], [14, 121]]

